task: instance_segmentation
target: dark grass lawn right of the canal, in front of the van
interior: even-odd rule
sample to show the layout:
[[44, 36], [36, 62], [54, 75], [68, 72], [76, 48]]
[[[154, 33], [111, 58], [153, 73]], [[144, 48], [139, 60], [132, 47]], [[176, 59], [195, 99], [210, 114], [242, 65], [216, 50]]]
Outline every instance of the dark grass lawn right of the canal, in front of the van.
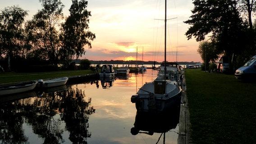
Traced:
[[186, 69], [193, 144], [254, 144], [256, 82]]

